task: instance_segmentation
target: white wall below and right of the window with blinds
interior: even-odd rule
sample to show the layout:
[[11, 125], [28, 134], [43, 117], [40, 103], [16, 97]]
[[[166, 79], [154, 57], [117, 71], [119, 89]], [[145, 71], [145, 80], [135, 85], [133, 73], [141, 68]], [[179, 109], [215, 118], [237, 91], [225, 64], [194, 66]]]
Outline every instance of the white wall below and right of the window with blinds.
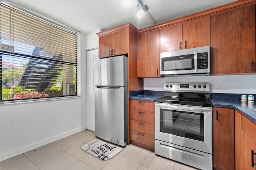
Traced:
[[86, 51], [81, 34], [81, 97], [0, 104], [0, 162], [85, 129]]

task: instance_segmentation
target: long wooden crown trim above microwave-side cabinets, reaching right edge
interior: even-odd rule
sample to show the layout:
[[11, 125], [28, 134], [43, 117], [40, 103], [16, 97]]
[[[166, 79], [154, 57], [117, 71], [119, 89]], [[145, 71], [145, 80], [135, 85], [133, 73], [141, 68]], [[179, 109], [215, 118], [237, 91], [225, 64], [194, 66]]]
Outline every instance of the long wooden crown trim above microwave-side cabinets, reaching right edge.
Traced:
[[208, 10], [204, 10], [204, 11], [201, 11], [201, 12], [196, 12], [194, 14], [190, 14], [190, 15], [183, 16], [183, 17], [176, 18], [176, 19], [169, 20], [169, 21], [164, 21], [164, 22], [158, 23], [154, 26], [150, 26], [150, 27], [146, 27], [144, 29], [140, 29], [140, 30], [138, 30], [138, 34], [148, 32], [148, 31], [152, 31], [152, 30], [155, 30], [155, 29], [160, 29], [160, 28], [163, 28], [163, 27], [167, 27], [169, 25], [173, 25], [173, 24], [176, 24], [176, 23], [181, 23], [181, 22], [184, 22], [184, 21], [193, 20], [195, 18], [199, 18], [199, 17], [202, 17], [202, 16], [213, 15], [213, 14], [217, 14], [217, 13], [224, 12], [224, 11], [227, 11], [227, 10], [232, 10], [233, 8], [238, 8], [240, 6], [246, 6], [246, 5], [255, 4], [255, 3], [256, 3], [256, 0], [238, 0], [238, 1], [230, 2], [228, 4], [224, 4], [224, 5], [221, 5], [221, 6], [214, 7], [214, 8], [210, 8]]

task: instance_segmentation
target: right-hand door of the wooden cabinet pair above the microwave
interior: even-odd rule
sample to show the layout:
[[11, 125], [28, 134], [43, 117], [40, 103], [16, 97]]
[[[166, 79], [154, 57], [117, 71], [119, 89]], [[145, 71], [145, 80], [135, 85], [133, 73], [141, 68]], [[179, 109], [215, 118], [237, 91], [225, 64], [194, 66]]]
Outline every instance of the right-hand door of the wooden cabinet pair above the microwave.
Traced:
[[210, 16], [183, 22], [183, 49], [208, 45], [210, 45]]

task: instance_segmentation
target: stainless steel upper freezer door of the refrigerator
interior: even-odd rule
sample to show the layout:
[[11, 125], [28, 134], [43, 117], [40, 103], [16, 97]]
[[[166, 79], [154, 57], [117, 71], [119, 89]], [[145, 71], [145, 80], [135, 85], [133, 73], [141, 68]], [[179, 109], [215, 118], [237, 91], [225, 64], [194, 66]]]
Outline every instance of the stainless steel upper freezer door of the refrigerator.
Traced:
[[95, 63], [95, 85], [126, 86], [127, 62], [126, 56], [97, 60]]

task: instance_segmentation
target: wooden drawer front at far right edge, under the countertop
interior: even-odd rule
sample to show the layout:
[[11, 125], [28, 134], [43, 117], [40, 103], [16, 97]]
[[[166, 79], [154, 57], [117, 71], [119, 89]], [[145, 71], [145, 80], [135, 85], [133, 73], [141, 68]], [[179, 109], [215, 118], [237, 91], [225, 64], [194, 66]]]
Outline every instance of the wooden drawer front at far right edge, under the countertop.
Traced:
[[241, 128], [244, 131], [244, 133], [246, 133], [246, 135], [254, 143], [256, 143], [256, 135], [255, 135], [256, 125], [252, 121], [244, 117], [243, 115], [241, 117]]

